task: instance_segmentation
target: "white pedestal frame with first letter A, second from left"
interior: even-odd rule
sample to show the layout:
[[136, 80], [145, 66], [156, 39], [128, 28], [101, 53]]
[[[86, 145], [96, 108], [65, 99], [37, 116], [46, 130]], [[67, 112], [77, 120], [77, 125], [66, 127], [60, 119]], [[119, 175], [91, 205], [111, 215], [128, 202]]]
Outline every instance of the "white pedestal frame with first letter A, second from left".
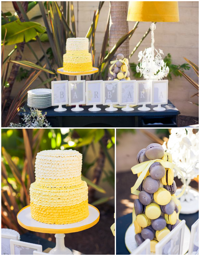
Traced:
[[80, 108], [79, 105], [86, 104], [86, 81], [69, 81], [68, 82], [69, 90], [69, 105], [76, 105], [75, 108], [72, 108], [72, 111], [82, 111], [83, 108]]

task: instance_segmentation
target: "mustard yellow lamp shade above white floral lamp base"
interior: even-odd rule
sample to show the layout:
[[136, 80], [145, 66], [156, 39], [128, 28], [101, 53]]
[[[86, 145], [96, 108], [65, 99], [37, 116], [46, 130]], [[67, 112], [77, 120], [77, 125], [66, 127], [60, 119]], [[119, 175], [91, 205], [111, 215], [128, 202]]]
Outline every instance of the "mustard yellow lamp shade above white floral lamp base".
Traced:
[[178, 1], [130, 1], [127, 20], [178, 22]]

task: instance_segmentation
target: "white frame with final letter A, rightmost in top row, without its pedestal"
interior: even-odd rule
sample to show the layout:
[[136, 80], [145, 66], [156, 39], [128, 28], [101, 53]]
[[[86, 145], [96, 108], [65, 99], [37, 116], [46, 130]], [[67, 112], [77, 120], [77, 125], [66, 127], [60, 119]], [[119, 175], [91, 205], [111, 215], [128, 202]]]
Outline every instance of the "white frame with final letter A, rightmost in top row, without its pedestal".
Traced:
[[160, 105], [160, 104], [167, 104], [167, 103], [168, 103], [168, 80], [152, 81], [151, 105]]

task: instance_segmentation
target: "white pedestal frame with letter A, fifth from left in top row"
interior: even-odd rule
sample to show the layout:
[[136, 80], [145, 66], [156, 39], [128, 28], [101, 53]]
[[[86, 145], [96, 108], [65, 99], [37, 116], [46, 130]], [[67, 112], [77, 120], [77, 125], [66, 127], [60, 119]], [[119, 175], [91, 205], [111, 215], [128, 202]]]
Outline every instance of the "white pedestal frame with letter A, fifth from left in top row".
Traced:
[[130, 108], [129, 105], [130, 104], [136, 105], [136, 93], [137, 93], [136, 86], [137, 86], [136, 80], [120, 81], [119, 105], [126, 105], [125, 108], [122, 108], [123, 111], [134, 110], [134, 108]]

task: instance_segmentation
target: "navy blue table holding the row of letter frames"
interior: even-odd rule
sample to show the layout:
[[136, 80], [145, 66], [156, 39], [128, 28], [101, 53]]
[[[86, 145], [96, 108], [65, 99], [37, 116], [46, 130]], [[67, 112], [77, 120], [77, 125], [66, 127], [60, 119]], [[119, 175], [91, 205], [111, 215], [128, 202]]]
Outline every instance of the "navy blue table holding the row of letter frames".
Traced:
[[[52, 127], [115, 127], [115, 128], [136, 128], [136, 127], [178, 127], [177, 117], [180, 114], [178, 109], [168, 101], [167, 105], [162, 105], [166, 108], [166, 111], [157, 112], [153, 108], [155, 106], [146, 105], [150, 107], [150, 111], [139, 111], [138, 107], [134, 107], [134, 111], [126, 112], [122, 111], [120, 108], [118, 111], [108, 112], [105, 110], [107, 106], [100, 105], [101, 111], [91, 112], [88, 109], [91, 106], [83, 106], [84, 110], [80, 112], [71, 111], [72, 107], [66, 107], [65, 112], [55, 112], [55, 107], [50, 107], [47, 109], [42, 109], [42, 113], [47, 112], [46, 119], [50, 122]], [[26, 114], [30, 113], [30, 108], [27, 104], [24, 106]], [[24, 112], [20, 111], [19, 121], [23, 123], [22, 118]], [[149, 125], [149, 123], [162, 123], [162, 125]]]

